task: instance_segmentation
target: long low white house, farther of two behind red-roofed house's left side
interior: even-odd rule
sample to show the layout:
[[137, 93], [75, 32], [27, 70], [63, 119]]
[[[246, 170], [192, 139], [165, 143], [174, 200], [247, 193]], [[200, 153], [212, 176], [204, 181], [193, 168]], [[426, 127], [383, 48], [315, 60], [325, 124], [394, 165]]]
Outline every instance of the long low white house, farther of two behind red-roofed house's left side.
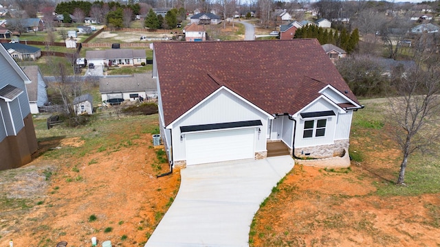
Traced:
[[103, 66], [133, 66], [146, 63], [144, 49], [107, 49], [102, 51], [85, 51], [87, 62]]

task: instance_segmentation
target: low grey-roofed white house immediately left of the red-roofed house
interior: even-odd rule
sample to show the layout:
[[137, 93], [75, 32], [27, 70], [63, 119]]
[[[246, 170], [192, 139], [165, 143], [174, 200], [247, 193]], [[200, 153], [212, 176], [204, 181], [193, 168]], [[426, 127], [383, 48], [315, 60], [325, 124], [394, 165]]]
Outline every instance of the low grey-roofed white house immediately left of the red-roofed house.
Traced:
[[139, 97], [156, 98], [157, 84], [151, 72], [136, 73], [131, 76], [100, 78], [99, 91], [102, 102], [111, 102], [111, 99], [135, 101]]

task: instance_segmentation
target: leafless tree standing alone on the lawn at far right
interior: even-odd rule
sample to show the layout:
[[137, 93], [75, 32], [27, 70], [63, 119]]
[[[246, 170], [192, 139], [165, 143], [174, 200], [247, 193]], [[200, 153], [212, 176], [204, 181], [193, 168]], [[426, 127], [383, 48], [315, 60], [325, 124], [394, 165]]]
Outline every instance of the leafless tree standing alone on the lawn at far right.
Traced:
[[[410, 69], [397, 67], [394, 88], [397, 97], [388, 97], [393, 136], [403, 153], [397, 185], [404, 185], [410, 154], [426, 150], [440, 137], [440, 65], [438, 56], [419, 56]], [[394, 95], [393, 95], [394, 96]]]

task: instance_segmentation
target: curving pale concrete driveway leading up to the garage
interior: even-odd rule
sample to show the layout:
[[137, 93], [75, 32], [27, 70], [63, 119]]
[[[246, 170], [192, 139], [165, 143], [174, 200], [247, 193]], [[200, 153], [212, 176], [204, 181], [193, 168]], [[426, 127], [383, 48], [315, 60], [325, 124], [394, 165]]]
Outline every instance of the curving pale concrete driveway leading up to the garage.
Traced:
[[292, 157], [276, 156], [182, 169], [175, 201], [145, 246], [249, 246], [259, 205], [293, 167]]

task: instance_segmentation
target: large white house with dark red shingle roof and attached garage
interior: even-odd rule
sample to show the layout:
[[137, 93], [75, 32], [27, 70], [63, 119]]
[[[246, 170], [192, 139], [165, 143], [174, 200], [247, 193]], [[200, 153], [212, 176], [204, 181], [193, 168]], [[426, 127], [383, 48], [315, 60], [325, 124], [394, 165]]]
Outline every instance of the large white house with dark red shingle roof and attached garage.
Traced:
[[342, 156], [363, 107], [316, 39], [155, 43], [153, 78], [173, 165]]

